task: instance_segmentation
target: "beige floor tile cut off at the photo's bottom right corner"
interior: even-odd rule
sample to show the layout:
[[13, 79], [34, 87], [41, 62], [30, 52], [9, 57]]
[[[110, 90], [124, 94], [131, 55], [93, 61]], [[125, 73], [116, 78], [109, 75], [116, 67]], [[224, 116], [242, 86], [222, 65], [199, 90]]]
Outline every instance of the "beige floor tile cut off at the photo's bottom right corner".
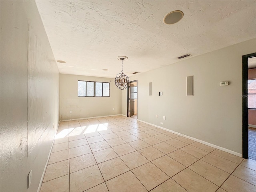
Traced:
[[222, 189], [226, 190], [227, 192], [254, 192], [256, 191], [256, 186], [239, 179], [233, 175], [224, 182], [221, 186]]

